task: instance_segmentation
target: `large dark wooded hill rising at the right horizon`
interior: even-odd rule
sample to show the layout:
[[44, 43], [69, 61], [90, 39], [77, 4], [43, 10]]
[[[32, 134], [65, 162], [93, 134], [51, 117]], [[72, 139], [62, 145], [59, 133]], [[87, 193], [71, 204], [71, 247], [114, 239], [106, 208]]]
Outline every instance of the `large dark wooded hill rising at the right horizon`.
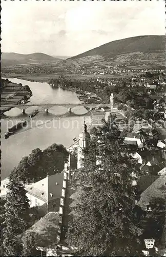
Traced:
[[128, 67], [165, 65], [165, 36], [143, 35], [116, 40], [67, 59], [79, 64], [122, 64]]

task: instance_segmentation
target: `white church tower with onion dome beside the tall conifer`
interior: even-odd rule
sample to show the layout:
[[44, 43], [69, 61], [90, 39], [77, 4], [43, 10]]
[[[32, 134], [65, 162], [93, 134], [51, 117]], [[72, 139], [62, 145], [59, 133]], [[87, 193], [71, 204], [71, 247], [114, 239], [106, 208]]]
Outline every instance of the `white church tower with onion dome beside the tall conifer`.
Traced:
[[84, 159], [84, 154], [82, 154], [82, 149], [87, 147], [90, 139], [91, 137], [90, 134], [87, 132], [87, 125], [84, 121], [84, 125], [82, 125], [82, 133], [79, 134], [79, 145], [77, 149], [77, 169], [83, 167], [82, 159]]

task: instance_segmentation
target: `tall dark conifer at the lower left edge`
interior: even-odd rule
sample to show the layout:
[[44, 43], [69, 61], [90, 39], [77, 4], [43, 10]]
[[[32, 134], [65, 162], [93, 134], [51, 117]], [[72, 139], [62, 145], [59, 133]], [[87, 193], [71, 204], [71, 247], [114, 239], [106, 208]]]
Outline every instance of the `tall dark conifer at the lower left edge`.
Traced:
[[10, 179], [5, 204], [5, 228], [3, 231], [3, 251], [5, 255], [17, 255], [13, 237], [26, 230], [29, 222], [29, 200], [24, 185], [19, 180]]

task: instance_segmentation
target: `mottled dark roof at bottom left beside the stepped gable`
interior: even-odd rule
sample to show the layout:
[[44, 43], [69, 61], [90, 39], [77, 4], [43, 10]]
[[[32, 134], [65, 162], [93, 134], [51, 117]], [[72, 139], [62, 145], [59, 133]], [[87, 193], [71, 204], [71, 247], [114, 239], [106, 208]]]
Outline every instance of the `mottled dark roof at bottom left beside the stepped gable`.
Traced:
[[[54, 248], [57, 243], [59, 213], [49, 212], [43, 218], [40, 218], [32, 227], [27, 231], [34, 235], [35, 245]], [[23, 242], [25, 233], [16, 236], [14, 238], [17, 242]]]

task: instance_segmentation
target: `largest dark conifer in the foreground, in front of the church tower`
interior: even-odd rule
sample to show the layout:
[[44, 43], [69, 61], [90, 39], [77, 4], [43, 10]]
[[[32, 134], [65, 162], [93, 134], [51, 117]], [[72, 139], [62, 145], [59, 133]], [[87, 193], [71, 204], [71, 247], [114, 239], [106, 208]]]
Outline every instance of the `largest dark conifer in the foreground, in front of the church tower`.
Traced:
[[67, 242], [76, 254], [140, 254], [140, 229], [133, 211], [137, 195], [132, 186], [139, 170], [119, 134], [105, 123], [99, 138], [84, 150], [84, 168], [73, 179], [73, 187], [81, 193]]

